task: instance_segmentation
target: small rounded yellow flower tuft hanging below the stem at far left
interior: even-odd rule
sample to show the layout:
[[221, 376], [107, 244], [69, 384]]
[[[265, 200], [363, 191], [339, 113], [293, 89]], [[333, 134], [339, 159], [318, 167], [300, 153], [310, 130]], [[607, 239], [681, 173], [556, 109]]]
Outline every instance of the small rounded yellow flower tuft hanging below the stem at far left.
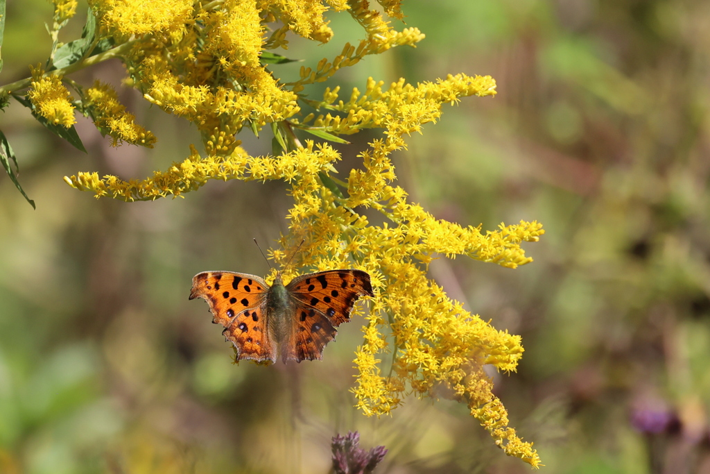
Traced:
[[77, 121], [74, 118], [74, 106], [70, 102], [73, 98], [69, 94], [60, 77], [55, 75], [43, 76], [43, 70], [38, 66], [32, 71], [31, 89], [27, 97], [35, 106], [40, 116], [50, 124], [62, 125], [67, 129]]

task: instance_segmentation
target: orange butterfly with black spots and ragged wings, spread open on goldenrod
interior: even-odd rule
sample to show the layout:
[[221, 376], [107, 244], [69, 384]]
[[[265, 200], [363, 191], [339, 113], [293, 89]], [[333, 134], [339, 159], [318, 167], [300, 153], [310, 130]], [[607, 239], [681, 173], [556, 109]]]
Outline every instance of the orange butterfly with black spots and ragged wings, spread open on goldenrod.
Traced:
[[360, 296], [373, 296], [362, 270], [329, 270], [297, 276], [286, 286], [256, 275], [203, 271], [192, 278], [190, 299], [204, 298], [212, 322], [236, 348], [236, 360], [321, 360]]

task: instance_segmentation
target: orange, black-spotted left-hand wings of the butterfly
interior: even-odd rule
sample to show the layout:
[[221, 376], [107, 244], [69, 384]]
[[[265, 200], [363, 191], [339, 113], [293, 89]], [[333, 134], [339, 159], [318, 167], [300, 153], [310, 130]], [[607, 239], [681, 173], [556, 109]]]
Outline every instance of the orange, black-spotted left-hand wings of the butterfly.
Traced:
[[234, 271], [203, 271], [192, 278], [190, 299], [204, 298], [212, 322], [224, 326], [236, 360], [276, 361], [276, 347], [266, 319], [269, 286], [256, 275]]

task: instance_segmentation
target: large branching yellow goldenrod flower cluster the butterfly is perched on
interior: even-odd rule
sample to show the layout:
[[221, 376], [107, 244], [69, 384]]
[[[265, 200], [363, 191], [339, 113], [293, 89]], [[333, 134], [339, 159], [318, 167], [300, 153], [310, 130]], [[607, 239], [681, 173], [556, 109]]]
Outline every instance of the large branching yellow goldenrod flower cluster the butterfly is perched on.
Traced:
[[[400, 1], [379, 3], [384, 14], [401, 18]], [[437, 220], [409, 202], [395, 184], [391, 161], [394, 151], [406, 148], [408, 135], [437, 121], [443, 104], [495, 95], [495, 80], [459, 74], [417, 85], [401, 79], [384, 87], [369, 79], [362, 91], [354, 89], [342, 99], [339, 87], [327, 88], [321, 100], [307, 98], [305, 86], [332, 80], [340, 68], [424, 38], [416, 28], [396, 31], [365, 0], [92, 0], [91, 5], [102, 35], [126, 45], [129, 85], [165, 112], [194, 123], [204, 153], [192, 147], [185, 161], [141, 181], [97, 173], [65, 181], [97, 198], [126, 201], [182, 196], [210, 179], [290, 183], [290, 234], [282, 237], [284, 249], [274, 250], [273, 258], [284, 263], [285, 254], [305, 239], [297, 254], [300, 267], [356, 267], [372, 277], [376, 296], [354, 360], [357, 406], [378, 416], [402, 404], [406, 394], [452, 397], [469, 406], [508, 455], [537, 468], [537, 453], [508, 426], [506, 409], [483, 369], [515, 371], [523, 353], [520, 338], [496, 330], [450, 299], [427, 277], [427, 268], [432, 259], [459, 255], [509, 268], [527, 264], [532, 259], [520, 245], [536, 242], [542, 226], [521, 221], [484, 231]], [[324, 58], [315, 70], [302, 68], [294, 82], [278, 82], [261, 63], [265, 51], [287, 48], [287, 32], [330, 41], [334, 32], [324, 18], [329, 10], [348, 11], [363, 27], [364, 40], [344, 45], [340, 55]], [[133, 126], [112, 90], [95, 85], [87, 97], [97, 124], [114, 140], [152, 144], [152, 135]], [[301, 117], [304, 103], [317, 112]], [[283, 153], [251, 156], [236, 134], [245, 126], [258, 132], [266, 124]], [[304, 130], [337, 140], [361, 129], [381, 129], [381, 138], [360, 152], [361, 166], [346, 178], [337, 177], [340, 155], [332, 146], [302, 144], [296, 136]], [[381, 212], [386, 221], [371, 225], [366, 208]], [[285, 280], [295, 274], [286, 272]]]

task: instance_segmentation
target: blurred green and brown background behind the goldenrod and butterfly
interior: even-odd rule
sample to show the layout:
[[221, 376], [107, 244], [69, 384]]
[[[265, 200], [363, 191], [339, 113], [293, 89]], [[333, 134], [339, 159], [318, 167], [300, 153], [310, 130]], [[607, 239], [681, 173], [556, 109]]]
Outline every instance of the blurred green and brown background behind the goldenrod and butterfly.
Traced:
[[[395, 163], [439, 218], [545, 225], [525, 246], [535, 262], [515, 271], [431, 266], [450, 296], [523, 336], [518, 373], [495, 375], [511, 426], [547, 473], [710, 473], [710, 3], [410, 0], [404, 11], [425, 41], [328, 85], [498, 81], [495, 98], [445, 106]], [[46, 1], [9, 2], [0, 82], [45, 61], [50, 21]], [[314, 66], [362, 36], [347, 14], [331, 26], [331, 43], [294, 40], [287, 54]], [[290, 80], [301, 64], [272, 69]], [[72, 78], [123, 75], [116, 61]], [[381, 473], [528, 472], [465, 406], [407, 399], [382, 419], [352, 408], [362, 320], [341, 326], [322, 362], [231, 365], [207, 305], [187, 301], [190, 281], [266, 274], [251, 238], [266, 247], [288, 230], [286, 187], [212, 182], [130, 204], [69, 188], [62, 176], [77, 171], [143, 178], [199, 143], [134, 91], [121, 98], [155, 149], [112, 149], [80, 119], [84, 155], [17, 103], [0, 118], [37, 204], [0, 176], [0, 473], [327, 473], [330, 438], [355, 429], [365, 448], [390, 450]], [[342, 174], [375, 136], [340, 147]], [[271, 151], [267, 133], [242, 138]]]

